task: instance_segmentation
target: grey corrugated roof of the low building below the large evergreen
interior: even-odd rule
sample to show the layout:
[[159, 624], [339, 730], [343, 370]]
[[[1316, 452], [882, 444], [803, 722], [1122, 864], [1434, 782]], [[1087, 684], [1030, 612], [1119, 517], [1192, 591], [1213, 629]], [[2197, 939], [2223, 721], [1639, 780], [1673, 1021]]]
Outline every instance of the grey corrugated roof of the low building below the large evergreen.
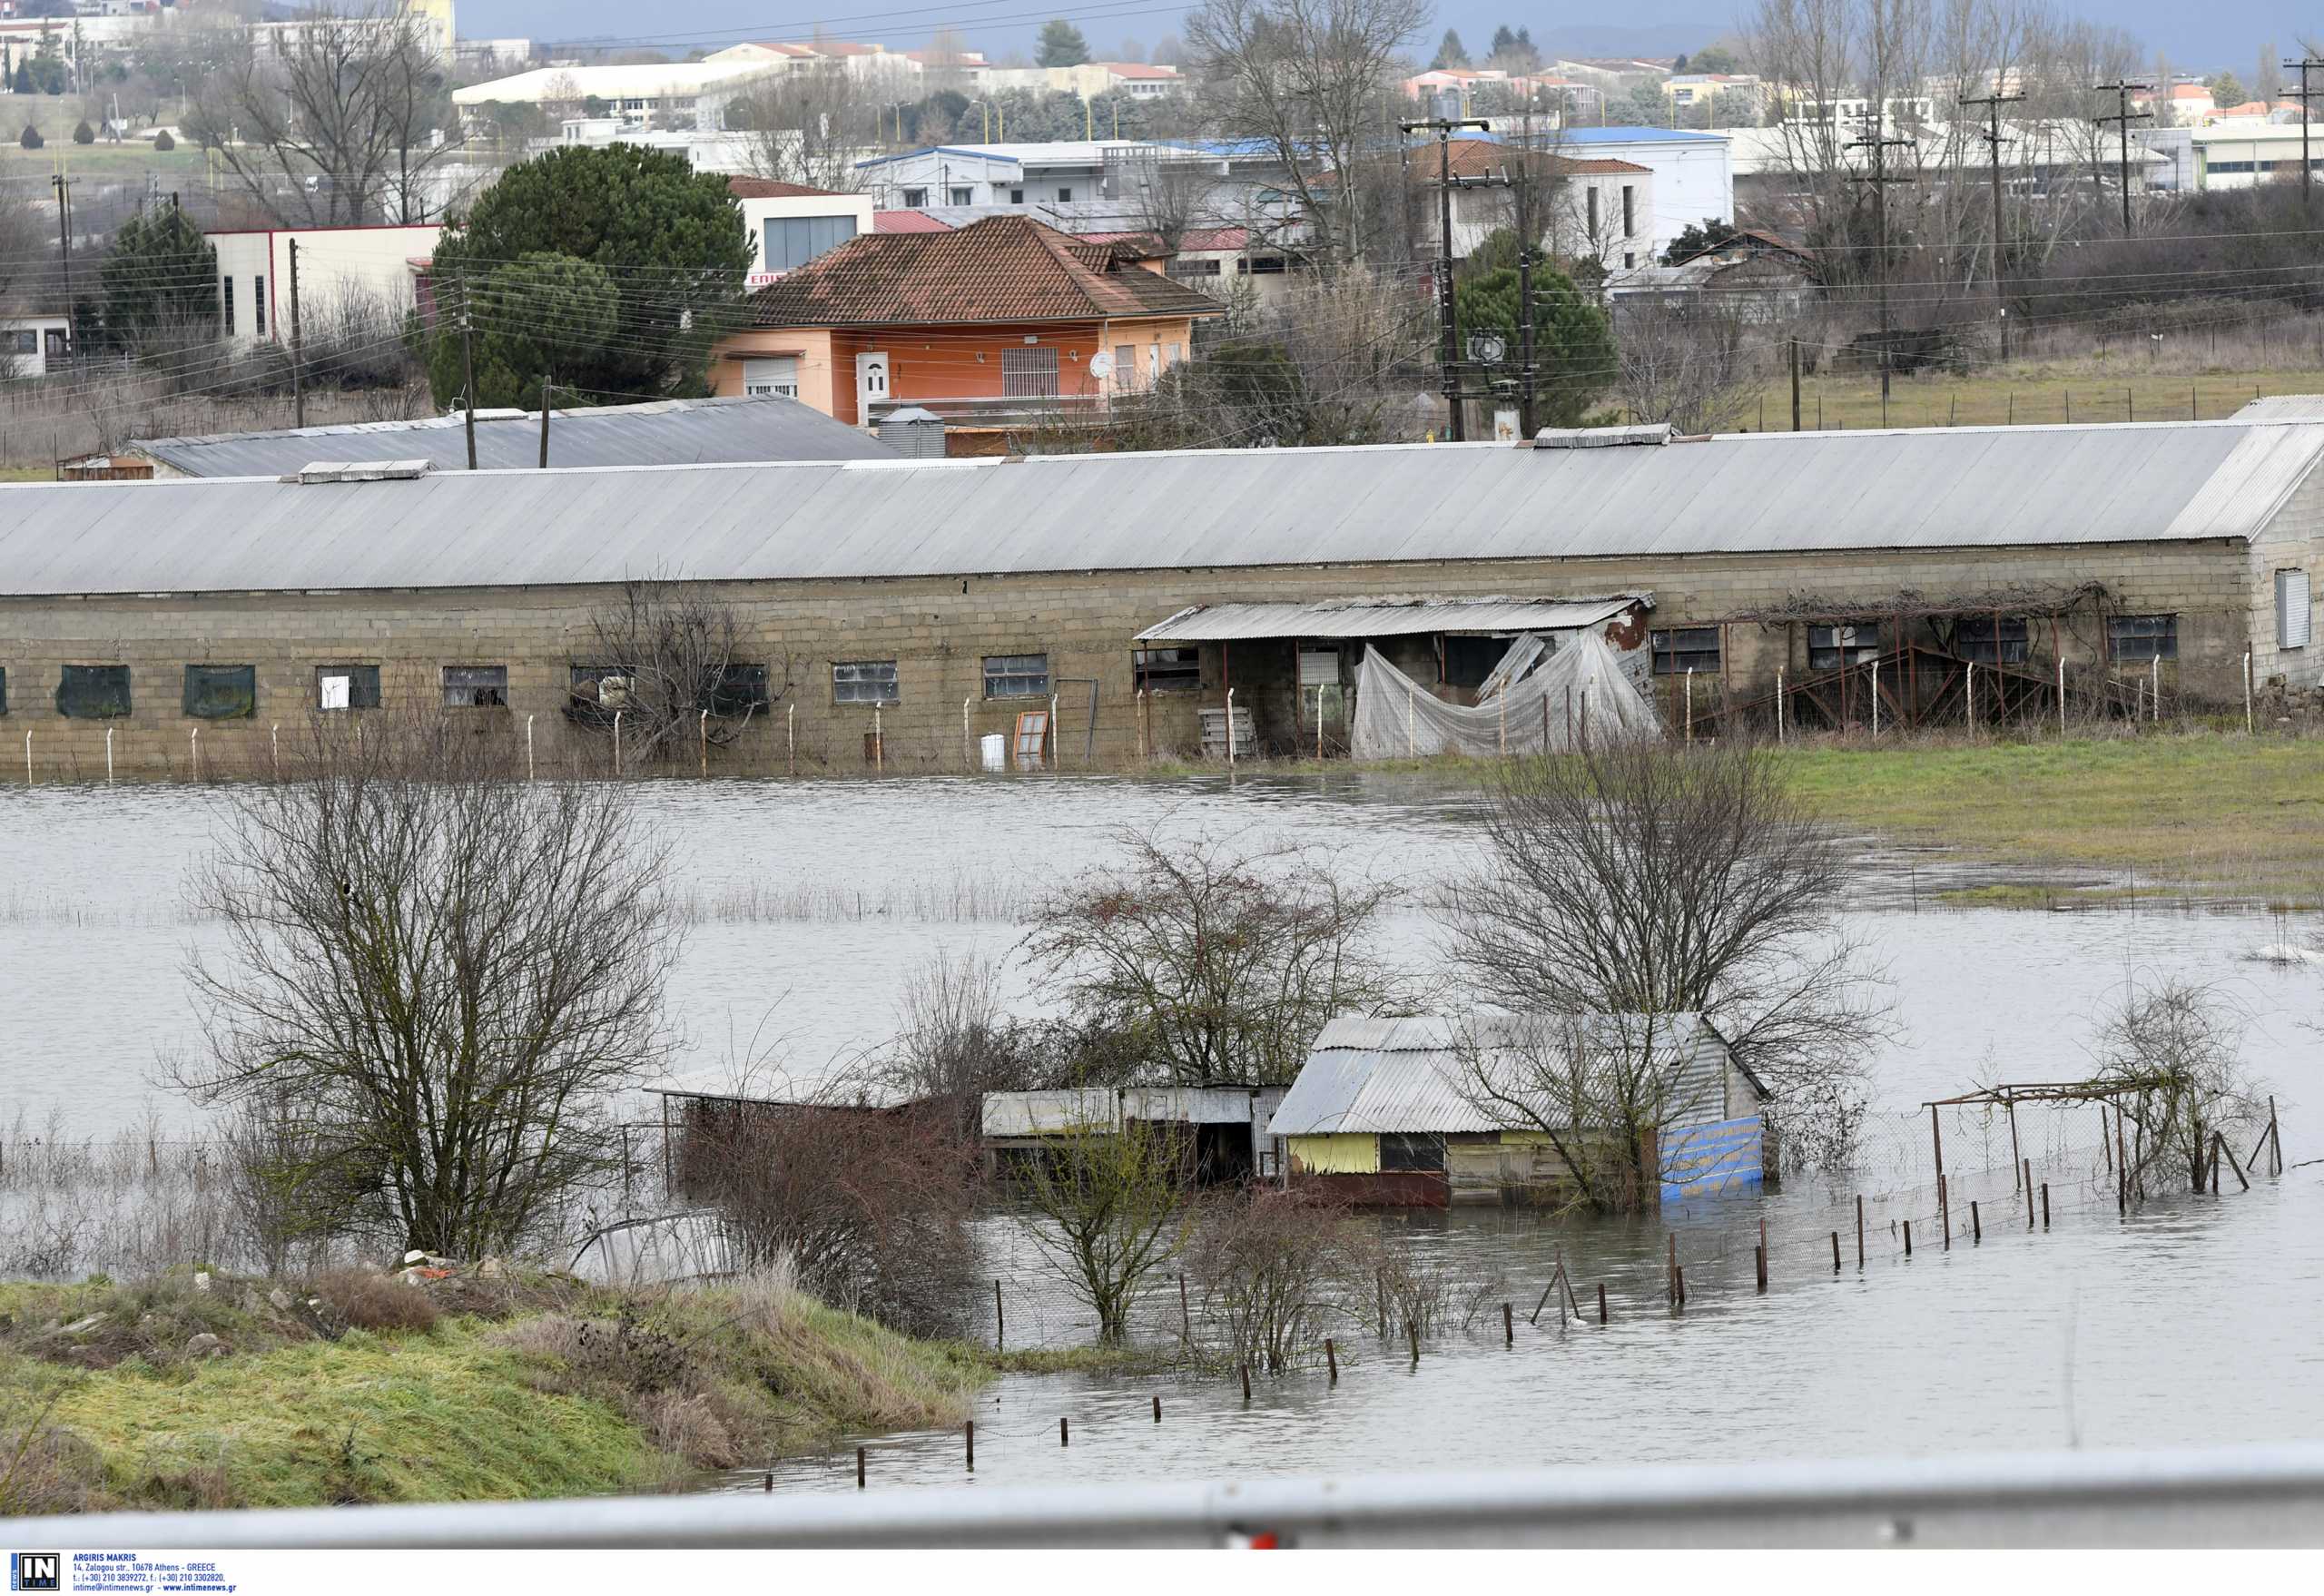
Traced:
[[[186, 476], [288, 476], [314, 460], [425, 458], [439, 472], [467, 469], [460, 416], [358, 420], [337, 427], [153, 437], [130, 448]], [[476, 465], [521, 472], [539, 465], [541, 414], [476, 416]], [[548, 465], [704, 465], [737, 460], [895, 460], [876, 437], [797, 400], [658, 400], [548, 414]]]

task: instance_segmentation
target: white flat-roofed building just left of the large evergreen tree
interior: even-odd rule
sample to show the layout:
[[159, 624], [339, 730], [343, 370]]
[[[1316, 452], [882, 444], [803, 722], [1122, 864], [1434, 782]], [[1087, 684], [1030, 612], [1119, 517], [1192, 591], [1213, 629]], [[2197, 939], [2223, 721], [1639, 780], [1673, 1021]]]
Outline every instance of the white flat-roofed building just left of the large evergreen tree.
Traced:
[[444, 228], [253, 228], [207, 232], [218, 251], [218, 332], [228, 344], [290, 342], [290, 244], [304, 325], [383, 311], [400, 321]]

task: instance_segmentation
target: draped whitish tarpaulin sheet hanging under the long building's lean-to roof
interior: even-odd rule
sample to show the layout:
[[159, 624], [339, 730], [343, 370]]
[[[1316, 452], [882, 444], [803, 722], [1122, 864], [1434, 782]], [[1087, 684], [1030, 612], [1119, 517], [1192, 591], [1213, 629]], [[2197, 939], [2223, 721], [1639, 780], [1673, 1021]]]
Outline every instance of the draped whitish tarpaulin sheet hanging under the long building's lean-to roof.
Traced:
[[[1569, 725], [1571, 713], [1571, 725]], [[1662, 718], [1638, 692], [1622, 657], [1597, 632], [1580, 632], [1525, 681], [1487, 704], [1446, 704], [1399, 671], [1378, 648], [1364, 650], [1355, 678], [1357, 760], [1466, 753], [1569, 753], [1592, 741], [1662, 736]]]

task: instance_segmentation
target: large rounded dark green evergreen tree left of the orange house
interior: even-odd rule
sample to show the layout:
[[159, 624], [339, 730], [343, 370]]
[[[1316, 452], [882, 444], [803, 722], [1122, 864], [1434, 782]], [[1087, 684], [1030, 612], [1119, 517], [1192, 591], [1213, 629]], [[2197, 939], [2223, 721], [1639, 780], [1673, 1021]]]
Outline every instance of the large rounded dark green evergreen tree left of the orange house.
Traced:
[[[737, 325], [751, 269], [751, 242], [723, 177], [637, 144], [558, 149], [509, 167], [437, 244], [435, 342], [458, 346], [462, 293], [486, 332], [493, 274], [541, 253], [602, 267], [618, 295], [614, 337], [560, 365], [560, 383], [641, 400], [706, 393], [711, 344]], [[553, 332], [532, 314], [521, 321], [500, 330]]]

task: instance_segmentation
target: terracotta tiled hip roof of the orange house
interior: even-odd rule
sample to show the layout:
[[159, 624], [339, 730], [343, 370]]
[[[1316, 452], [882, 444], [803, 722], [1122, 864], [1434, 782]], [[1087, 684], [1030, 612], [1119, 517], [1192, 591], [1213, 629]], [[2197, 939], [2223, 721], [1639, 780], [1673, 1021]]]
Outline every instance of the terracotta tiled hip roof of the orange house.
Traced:
[[758, 328], [960, 325], [1092, 316], [1218, 316], [1134, 251], [1030, 216], [951, 232], [862, 232], [751, 295]]

